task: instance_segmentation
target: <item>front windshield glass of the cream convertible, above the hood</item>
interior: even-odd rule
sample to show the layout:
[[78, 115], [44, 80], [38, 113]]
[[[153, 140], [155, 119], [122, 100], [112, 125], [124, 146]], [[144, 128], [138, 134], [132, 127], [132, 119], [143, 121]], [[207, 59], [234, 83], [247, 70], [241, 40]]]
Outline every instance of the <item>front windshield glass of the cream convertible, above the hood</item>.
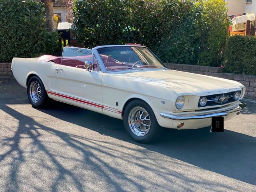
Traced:
[[164, 67], [146, 47], [114, 46], [99, 48], [97, 51], [108, 71]]

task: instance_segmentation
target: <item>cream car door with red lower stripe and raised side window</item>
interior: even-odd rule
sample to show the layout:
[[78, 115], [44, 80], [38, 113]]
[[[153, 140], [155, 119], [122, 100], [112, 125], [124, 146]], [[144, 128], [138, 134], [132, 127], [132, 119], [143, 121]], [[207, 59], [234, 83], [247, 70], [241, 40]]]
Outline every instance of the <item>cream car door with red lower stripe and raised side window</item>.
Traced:
[[90, 49], [64, 48], [62, 63], [56, 66], [56, 97], [62, 102], [102, 113], [103, 73], [84, 66], [86, 61], [92, 62], [92, 56]]

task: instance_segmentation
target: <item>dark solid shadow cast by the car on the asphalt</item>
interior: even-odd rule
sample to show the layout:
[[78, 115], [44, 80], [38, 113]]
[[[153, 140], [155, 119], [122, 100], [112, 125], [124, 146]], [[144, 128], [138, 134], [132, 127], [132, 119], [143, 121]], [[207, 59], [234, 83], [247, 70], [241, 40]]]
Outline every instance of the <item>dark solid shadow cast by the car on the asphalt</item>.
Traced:
[[[224, 133], [210, 133], [210, 128], [166, 129], [160, 141], [153, 144], [138, 144], [124, 135], [121, 120], [59, 102], [55, 102], [53, 108], [41, 111], [100, 134], [132, 142], [148, 150], [256, 185], [255, 137], [230, 130], [225, 130]], [[113, 130], [118, 130], [122, 134], [116, 135]]]

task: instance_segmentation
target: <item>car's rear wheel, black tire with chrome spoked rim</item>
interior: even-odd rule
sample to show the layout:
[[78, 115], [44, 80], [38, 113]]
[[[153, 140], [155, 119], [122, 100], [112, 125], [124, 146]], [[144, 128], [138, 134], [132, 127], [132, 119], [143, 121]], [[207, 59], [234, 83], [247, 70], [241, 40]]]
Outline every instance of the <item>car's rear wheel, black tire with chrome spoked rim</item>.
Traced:
[[28, 80], [27, 94], [29, 102], [35, 108], [44, 108], [50, 102], [44, 84], [38, 76], [32, 76]]

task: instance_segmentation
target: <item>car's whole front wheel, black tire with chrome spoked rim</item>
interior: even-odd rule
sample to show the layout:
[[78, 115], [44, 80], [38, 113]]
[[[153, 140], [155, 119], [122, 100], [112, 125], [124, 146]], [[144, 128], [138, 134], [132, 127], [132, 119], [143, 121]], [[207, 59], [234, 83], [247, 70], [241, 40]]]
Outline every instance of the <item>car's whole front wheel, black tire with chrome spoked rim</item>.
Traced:
[[139, 143], [156, 141], [162, 134], [153, 110], [142, 100], [133, 100], [126, 106], [124, 128]]

